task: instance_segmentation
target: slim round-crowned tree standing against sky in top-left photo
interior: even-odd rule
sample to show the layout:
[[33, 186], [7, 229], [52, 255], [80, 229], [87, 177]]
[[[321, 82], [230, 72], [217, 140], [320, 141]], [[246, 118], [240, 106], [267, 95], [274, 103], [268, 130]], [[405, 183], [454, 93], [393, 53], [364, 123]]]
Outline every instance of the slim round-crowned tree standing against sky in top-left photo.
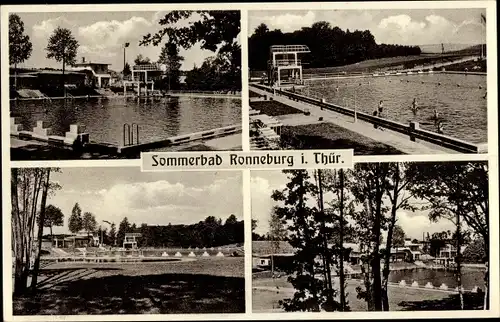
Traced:
[[47, 58], [54, 58], [57, 62], [62, 62], [64, 96], [66, 96], [64, 71], [66, 65], [72, 66], [75, 64], [78, 46], [78, 41], [73, 37], [69, 29], [57, 27], [49, 38], [47, 48], [45, 48]]

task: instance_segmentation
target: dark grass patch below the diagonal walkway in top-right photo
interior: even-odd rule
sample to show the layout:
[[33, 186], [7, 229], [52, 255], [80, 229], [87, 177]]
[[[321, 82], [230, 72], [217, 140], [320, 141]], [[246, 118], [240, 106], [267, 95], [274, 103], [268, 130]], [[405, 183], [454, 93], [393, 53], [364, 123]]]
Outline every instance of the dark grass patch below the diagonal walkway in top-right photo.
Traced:
[[401, 151], [332, 123], [284, 126], [282, 146], [291, 149], [354, 149], [354, 155], [402, 154]]

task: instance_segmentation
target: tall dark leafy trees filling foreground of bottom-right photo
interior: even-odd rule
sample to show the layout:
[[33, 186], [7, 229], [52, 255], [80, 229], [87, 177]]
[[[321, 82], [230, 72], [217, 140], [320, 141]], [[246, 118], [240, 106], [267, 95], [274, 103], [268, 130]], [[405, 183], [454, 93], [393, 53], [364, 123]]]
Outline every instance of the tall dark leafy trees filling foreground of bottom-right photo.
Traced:
[[[451, 236], [434, 237], [452, 241], [457, 249], [458, 299], [464, 308], [460, 249], [468, 236], [480, 241], [474, 247], [482, 248], [481, 261], [488, 263], [486, 162], [359, 163], [353, 170], [283, 172], [288, 182], [272, 194], [278, 205], [272, 210], [268, 239], [287, 240], [296, 249], [288, 277], [295, 293], [281, 302], [286, 311], [349, 310], [346, 242], [358, 244], [361, 253], [358, 298], [370, 311], [388, 311], [391, 248], [402, 246], [405, 237], [398, 228], [398, 213], [418, 209], [428, 211], [431, 221], [446, 219], [455, 226]], [[332, 283], [334, 271], [339, 285]], [[485, 286], [487, 307], [487, 272]]]

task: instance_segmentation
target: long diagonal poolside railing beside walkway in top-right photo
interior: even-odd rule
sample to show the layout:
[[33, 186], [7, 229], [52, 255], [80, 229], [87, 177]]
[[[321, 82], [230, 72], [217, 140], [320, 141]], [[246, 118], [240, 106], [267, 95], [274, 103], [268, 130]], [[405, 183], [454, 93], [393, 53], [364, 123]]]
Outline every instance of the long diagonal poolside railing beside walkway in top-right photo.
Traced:
[[[253, 84], [252, 86], [255, 86], [261, 90], [267, 91], [267, 92], [273, 92], [273, 89], [259, 85], [259, 84]], [[435, 132], [427, 131], [427, 130], [422, 130], [418, 128], [418, 123], [410, 123], [410, 125], [404, 125], [401, 123], [398, 123], [396, 121], [388, 120], [385, 118], [380, 118], [378, 116], [372, 116], [369, 114], [366, 114], [364, 112], [359, 112], [355, 111], [353, 109], [348, 109], [345, 107], [341, 107], [339, 105], [327, 103], [324, 101], [324, 99], [314, 99], [310, 98], [307, 96], [303, 96], [300, 94], [296, 93], [291, 93], [288, 91], [283, 91], [283, 90], [276, 90], [277, 94], [283, 95], [291, 100], [294, 101], [302, 101], [304, 103], [308, 103], [311, 105], [316, 105], [320, 107], [321, 109], [327, 109], [333, 112], [337, 112], [340, 114], [344, 114], [347, 116], [352, 116], [354, 117], [356, 115], [356, 118], [374, 125], [378, 125], [380, 127], [386, 128], [388, 130], [392, 130], [395, 132], [407, 134], [410, 137], [411, 141], [415, 141], [416, 139], [420, 139], [429, 143], [433, 143], [445, 148], [449, 148], [454, 151], [462, 152], [462, 153], [480, 153], [480, 147], [478, 145], [452, 138], [446, 135], [438, 134]]]

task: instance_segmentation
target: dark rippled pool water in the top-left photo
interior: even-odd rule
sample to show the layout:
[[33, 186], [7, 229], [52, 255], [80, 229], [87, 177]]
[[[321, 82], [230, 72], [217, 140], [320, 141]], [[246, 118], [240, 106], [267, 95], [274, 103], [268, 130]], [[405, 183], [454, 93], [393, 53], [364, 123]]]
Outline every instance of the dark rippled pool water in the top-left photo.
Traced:
[[[241, 100], [228, 98], [76, 99], [11, 102], [23, 130], [46, 121], [54, 135], [64, 136], [71, 124], [83, 125], [90, 140], [122, 145], [123, 126], [139, 126], [140, 143], [218, 127], [241, 124]], [[135, 134], [134, 134], [135, 135]]]

